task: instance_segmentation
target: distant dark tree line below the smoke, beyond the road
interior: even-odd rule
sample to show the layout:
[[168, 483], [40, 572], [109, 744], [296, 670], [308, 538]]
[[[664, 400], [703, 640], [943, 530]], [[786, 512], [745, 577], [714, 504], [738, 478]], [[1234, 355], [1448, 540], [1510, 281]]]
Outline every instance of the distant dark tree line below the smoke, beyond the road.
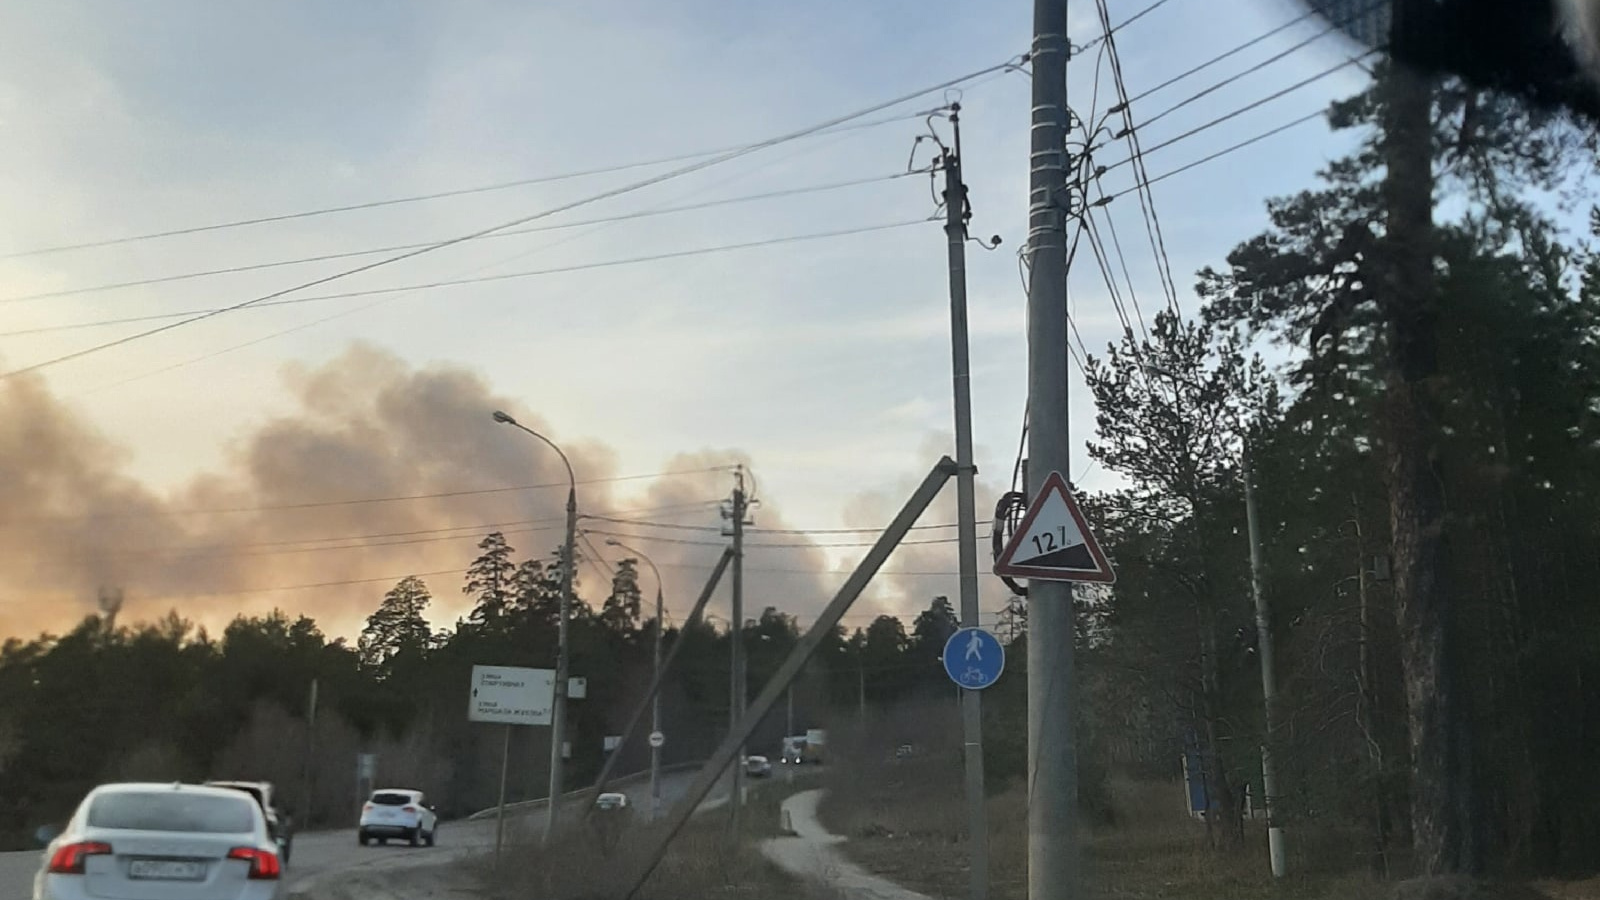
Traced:
[[[459, 588], [470, 610], [443, 629], [429, 623], [432, 589], [408, 577], [378, 601], [354, 641], [330, 637], [304, 615], [240, 617], [208, 634], [178, 612], [120, 623], [115, 610], [66, 634], [6, 641], [0, 842], [30, 847], [34, 830], [109, 780], [270, 780], [301, 826], [349, 825], [363, 753], [378, 757], [378, 781], [429, 791], [446, 817], [491, 807], [502, 732], [467, 722], [470, 669], [554, 668], [562, 583], [558, 551], [518, 559], [499, 532], [478, 549]], [[602, 589], [590, 597], [582, 581], [574, 588], [571, 674], [587, 679], [587, 697], [568, 703], [568, 785], [598, 772], [605, 738], [621, 732], [653, 673], [659, 623], [643, 615], [637, 560], [621, 560]], [[752, 695], [798, 641], [782, 605], [766, 605], [739, 629]], [[886, 708], [933, 690], [954, 628], [939, 597], [910, 628], [880, 617], [853, 633], [837, 629], [794, 690], [794, 727], [827, 727], [835, 708]], [[704, 759], [726, 729], [731, 629], [669, 625], [662, 639], [685, 642], [662, 692], [664, 761]], [[752, 753], [776, 756], [789, 709], [763, 722]], [[510, 799], [546, 794], [549, 751], [547, 727], [515, 729]], [[643, 735], [622, 753], [619, 772], [648, 765]]]

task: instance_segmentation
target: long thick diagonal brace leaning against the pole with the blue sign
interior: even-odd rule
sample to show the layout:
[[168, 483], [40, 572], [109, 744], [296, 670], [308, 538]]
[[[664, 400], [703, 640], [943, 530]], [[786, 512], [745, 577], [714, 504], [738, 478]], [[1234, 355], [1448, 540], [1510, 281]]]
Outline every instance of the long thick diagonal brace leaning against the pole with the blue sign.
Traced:
[[872, 549], [867, 551], [867, 556], [862, 557], [861, 564], [856, 565], [856, 570], [845, 580], [845, 585], [837, 594], [834, 594], [827, 609], [816, 617], [816, 621], [811, 623], [805, 637], [802, 637], [795, 649], [789, 652], [789, 658], [784, 660], [784, 665], [779, 666], [778, 673], [766, 682], [760, 697], [750, 703], [744, 719], [739, 722], [739, 727], [728, 732], [722, 745], [717, 746], [717, 753], [714, 753], [710, 759], [706, 761], [706, 765], [701, 767], [699, 775], [694, 777], [694, 783], [690, 785], [688, 793], [672, 809], [666, 830], [661, 831], [654, 846], [645, 855], [645, 866], [637, 876], [634, 876], [630, 887], [622, 894], [624, 900], [632, 900], [632, 897], [638, 894], [638, 889], [645, 886], [645, 881], [650, 879], [650, 874], [656, 871], [662, 857], [667, 855], [667, 846], [678, 836], [678, 831], [683, 830], [690, 817], [694, 815], [694, 810], [699, 809], [699, 804], [706, 801], [706, 794], [709, 794], [712, 786], [715, 786], [715, 783], [722, 778], [722, 772], [733, 762], [733, 757], [738, 756], [739, 748], [750, 740], [750, 733], [762, 724], [762, 719], [771, 713], [773, 706], [778, 705], [784, 690], [789, 689], [789, 684], [794, 682], [795, 676], [800, 674], [800, 669], [805, 668], [806, 660], [816, 653], [822, 639], [827, 637], [835, 626], [838, 626], [838, 621], [846, 612], [850, 612], [850, 605], [856, 602], [856, 597], [861, 596], [861, 591], [867, 588], [872, 577], [877, 575], [883, 562], [891, 552], [894, 552], [894, 548], [906, 538], [910, 527], [917, 524], [917, 517], [928, 509], [928, 504], [939, 495], [944, 482], [950, 480], [954, 474], [955, 461], [944, 456], [933, 468], [933, 471], [928, 472], [928, 477], [922, 480], [922, 485], [912, 492], [910, 500], [906, 501], [906, 506], [901, 508], [898, 516], [894, 516], [890, 527], [883, 530], [877, 543], [872, 544]]

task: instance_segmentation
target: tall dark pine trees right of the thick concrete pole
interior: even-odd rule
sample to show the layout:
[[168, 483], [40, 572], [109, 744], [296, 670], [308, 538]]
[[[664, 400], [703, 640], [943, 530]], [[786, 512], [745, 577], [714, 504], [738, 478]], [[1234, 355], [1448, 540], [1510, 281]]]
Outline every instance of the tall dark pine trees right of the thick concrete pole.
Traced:
[[1086, 764], [1189, 754], [1229, 846], [1266, 743], [1291, 834], [1355, 826], [1378, 871], [1592, 871], [1600, 210], [1557, 216], [1595, 136], [1392, 69], [1330, 123], [1354, 152], [1200, 272], [1195, 315], [1088, 362], [1122, 487], [1090, 498], [1118, 581], [1080, 594]]

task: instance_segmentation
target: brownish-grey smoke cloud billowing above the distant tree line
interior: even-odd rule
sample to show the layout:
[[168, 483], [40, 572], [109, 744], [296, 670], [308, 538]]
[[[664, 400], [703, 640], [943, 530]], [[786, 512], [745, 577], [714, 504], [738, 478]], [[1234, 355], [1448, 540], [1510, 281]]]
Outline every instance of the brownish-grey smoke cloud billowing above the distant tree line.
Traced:
[[[502, 530], [518, 557], [546, 557], [562, 541], [565, 469], [534, 439], [494, 424], [496, 408], [563, 447], [581, 482], [579, 509], [606, 517], [582, 522], [595, 549], [614, 562], [629, 554], [605, 546], [603, 532], [630, 535], [622, 540], [661, 567], [669, 607], [682, 615], [722, 552], [717, 501], [733, 479], [710, 469], [750, 463], [707, 450], [661, 466], [691, 474], [605, 480], [630, 472], [618, 471], [610, 447], [544, 421], [538, 397], [522, 405], [459, 367], [419, 368], [370, 346], [290, 368], [285, 383], [291, 415], [240, 436], [219, 471], [170, 492], [126, 476], [126, 453], [42, 380], [0, 383], [0, 631], [70, 626], [94, 612], [99, 588], [114, 586], [125, 591], [125, 620], [176, 609], [216, 629], [238, 613], [283, 609], [350, 634], [390, 578], [430, 572], [437, 618], [453, 621], [467, 609], [453, 570], [470, 564], [486, 532]], [[546, 487], [498, 490], [509, 485]], [[419, 496], [445, 493], [456, 495]], [[774, 498], [762, 501], [760, 524], [784, 527]], [[592, 602], [608, 589], [595, 565], [581, 570]], [[821, 609], [827, 565], [814, 548], [752, 548], [749, 615]], [[286, 586], [298, 588], [272, 589]], [[723, 617], [726, 591], [714, 604]]]

